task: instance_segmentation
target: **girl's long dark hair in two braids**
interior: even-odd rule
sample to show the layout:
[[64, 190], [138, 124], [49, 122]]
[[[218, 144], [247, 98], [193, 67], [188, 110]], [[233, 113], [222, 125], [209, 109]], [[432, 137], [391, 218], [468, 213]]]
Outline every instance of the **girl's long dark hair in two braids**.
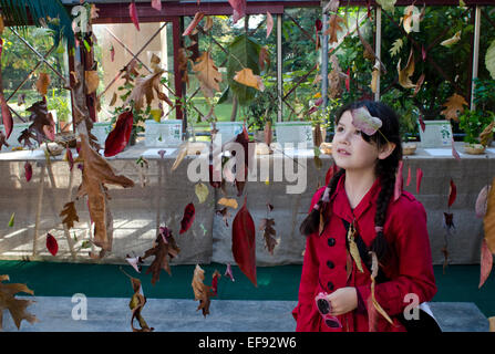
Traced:
[[[394, 192], [395, 173], [399, 167], [399, 163], [402, 159], [402, 144], [399, 134], [399, 116], [392, 108], [381, 102], [359, 101], [347, 104], [339, 110], [336, 116], [336, 126], [344, 112], [360, 107], [365, 107], [372, 116], [379, 117], [382, 121], [382, 126], [380, 127], [381, 134], [377, 132], [375, 134], [369, 136], [361, 133], [362, 138], [370, 144], [377, 144], [379, 149], [389, 142], [395, 144], [395, 148], [390, 156], [377, 162], [374, 170], [375, 176], [380, 177], [381, 190], [377, 199], [377, 214], [374, 216], [377, 237], [374, 238], [370, 249], [377, 253], [379, 260], [382, 260], [388, 254], [388, 243], [383, 233], [383, 226], [385, 225], [386, 210]], [[386, 137], [386, 139], [382, 134]], [[344, 173], [346, 170], [341, 168], [330, 179], [324, 192], [321, 195], [311, 212], [302, 221], [299, 228], [299, 231], [302, 235], [309, 236], [318, 230], [320, 223], [320, 211], [323, 211], [327, 215], [330, 214], [330, 196], [334, 194], [337, 184]]]

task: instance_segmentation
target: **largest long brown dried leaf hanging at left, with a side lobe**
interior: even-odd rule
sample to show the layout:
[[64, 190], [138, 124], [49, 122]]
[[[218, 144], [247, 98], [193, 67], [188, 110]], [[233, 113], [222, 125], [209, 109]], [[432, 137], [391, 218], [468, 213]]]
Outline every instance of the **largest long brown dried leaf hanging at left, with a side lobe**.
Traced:
[[[104, 184], [127, 188], [134, 187], [134, 183], [127, 177], [116, 176], [109, 163], [91, 148], [87, 136], [80, 134], [80, 156], [84, 162], [84, 168], [78, 197], [87, 195], [90, 217], [94, 222], [94, 244], [101, 247], [103, 251], [110, 251], [112, 249], [113, 225]], [[103, 257], [104, 252], [101, 256]]]

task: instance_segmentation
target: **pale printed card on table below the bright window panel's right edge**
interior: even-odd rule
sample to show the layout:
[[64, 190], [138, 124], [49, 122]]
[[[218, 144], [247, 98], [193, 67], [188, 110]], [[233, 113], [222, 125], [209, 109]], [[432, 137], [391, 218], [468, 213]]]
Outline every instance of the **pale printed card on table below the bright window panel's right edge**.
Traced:
[[182, 143], [183, 121], [167, 119], [144, 122], [144, 145], [155, 147], [175, 147]]

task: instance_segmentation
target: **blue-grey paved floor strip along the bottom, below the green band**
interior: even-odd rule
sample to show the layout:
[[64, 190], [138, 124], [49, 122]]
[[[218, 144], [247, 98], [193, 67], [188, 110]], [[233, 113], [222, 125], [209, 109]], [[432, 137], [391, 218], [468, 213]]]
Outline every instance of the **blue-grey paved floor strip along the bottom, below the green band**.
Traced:
[[[81, 299], [35, 296], [35, 301], [28, 310], [39, 322], [23, 321], [20, 332], [131, 331], [130, 299], [86, 298], [86, 320], [73, 319], [82, 314]], [[147, 299], [142, 314], [157, 332], [292, 332], [296, 327], [290, 313], [293, 301], [213, 300], [206, 317], [196, 311], [197, 304], [193, 300]], [[488, 321], [472, 302], [432, 302], [431, 310], [444, 332], [488, 331]], [[3, 331], [18, 331], [7, 311]]]

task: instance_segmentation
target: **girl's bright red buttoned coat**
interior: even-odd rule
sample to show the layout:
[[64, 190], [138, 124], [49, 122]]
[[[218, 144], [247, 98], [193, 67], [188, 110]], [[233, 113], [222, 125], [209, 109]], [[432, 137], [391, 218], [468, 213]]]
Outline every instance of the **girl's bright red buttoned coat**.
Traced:
[[[299, 285], [299, 301], [292, 315], [297, 321], [296, 331], [309, 332], [368, 332], [367, 311], [351, 311], [338, 316], [341, 329], [329, 329], [322, 321], [316, 306], [314, 296], [319, 292], [331, 293], [339, 288], [354, 287], [364, 303], [371, 295], [370, 272], [363, 264], [361, 273], [355, 264], [349, 277], [346, 270], [346, 228], [341, 220], [354, 226], [369, 248], [375, 237], [374, 215], [375, 200], [380, 192], [378, 178], [368, 194], [354, 210], [351, 210], [344, 189], [346, 175], [341, 177], [336, 192], [331, 196], [332, 215], [323, 233], [318, 232], [307, 237], [301, 282]], [[310, 210], [318, 202], [324, 187], [320, 188], [311, 200]], [[391, 201], [386, 212], [384, 235], [392, 250], [382, 270], [390, 281], [375, 284], [375, 299], [392, 317], [395, 325], [391, 325], [382, 315], [379, 316], [378, 330], [381, 332], [403, 332], [404, 326], [394, 315], [401, 313], [411, 300], [404, 302], [408, 293], [415, 293], [420, 303], [431, 301], [436, 293], [433, 274], [430, 239], [426, 230], [426, 212], [423, 205], [410, 192], [403, 191], [401, 197]]]

